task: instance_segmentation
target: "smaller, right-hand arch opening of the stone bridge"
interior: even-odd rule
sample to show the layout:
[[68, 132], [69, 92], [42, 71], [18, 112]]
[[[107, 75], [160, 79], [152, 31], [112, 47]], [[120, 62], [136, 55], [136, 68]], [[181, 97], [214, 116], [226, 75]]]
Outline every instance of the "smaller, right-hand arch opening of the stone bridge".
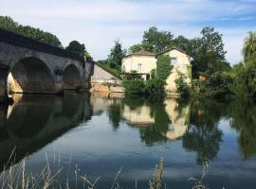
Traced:
[[72, 90], [82, 86], [82, 76], [79, 69], [74, 64], [68, 64], [64, 68], [63, 88], [64, 90]]

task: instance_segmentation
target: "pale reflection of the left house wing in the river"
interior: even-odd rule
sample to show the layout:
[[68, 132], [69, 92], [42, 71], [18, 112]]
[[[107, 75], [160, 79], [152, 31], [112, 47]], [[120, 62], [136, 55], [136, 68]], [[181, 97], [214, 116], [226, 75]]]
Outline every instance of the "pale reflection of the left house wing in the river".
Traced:
[[122, 117], [133, 126], [152, 126], [155, 124], [150, 107], [145, 105], [136, 109], [131, 109], [128, 105], [124, 105]]

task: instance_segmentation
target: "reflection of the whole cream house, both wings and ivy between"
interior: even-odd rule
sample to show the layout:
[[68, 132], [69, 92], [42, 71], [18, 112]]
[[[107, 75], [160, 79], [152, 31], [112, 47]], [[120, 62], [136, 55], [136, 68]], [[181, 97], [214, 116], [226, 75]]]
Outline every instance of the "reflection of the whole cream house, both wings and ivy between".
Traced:
[[[150, 137], [155, 134], [161, 135], [167, 140], [176, 140], [187, 131], [190, 106], [179, 103], [176, 99], [166, 99], [164, 105], [155, 106], [154, 104], [143, 103], [131, 108], [124, 104], [122, 118], [129, 125], [141, 127], [141, 129], [152, 127]], [[149, 133], [149, 130], [146, 132]]]

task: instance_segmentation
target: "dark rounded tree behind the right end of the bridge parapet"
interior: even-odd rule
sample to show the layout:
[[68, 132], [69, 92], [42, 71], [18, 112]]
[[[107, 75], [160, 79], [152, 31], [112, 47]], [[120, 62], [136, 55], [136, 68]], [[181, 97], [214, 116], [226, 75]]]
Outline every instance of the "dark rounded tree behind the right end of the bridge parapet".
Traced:
[[92, 60], [92, 57], [85, 49], [85, 45], [77, 41], [70, 42], [68, 46], [65, 47], [65, 50], [80, 55], [81, 57], [85, 57], [86, 59]]

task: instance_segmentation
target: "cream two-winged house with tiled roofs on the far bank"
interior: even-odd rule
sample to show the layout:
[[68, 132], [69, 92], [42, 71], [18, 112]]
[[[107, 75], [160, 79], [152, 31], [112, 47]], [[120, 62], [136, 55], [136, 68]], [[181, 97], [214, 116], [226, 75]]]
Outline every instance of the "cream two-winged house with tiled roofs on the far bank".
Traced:
[[144, 80], [151, 78], [152, 70], [156, 69], [157, 57], [160, 55], [169, 55], [171, 57], [170, 63], [174, 65], [170, 76], [166, 79], [166, 91], [168, 93], [175, 93], [175, 79], [178, 78], [180, 74], [186, 77], [185, 81], [188, 84], [191, 84], [191, 57], [185, 51], [174, 46], [157, 55], [145, 50], [139, 50], [136, 53], [124, 57], [121, 62], [123, 75], [139, 75]]

